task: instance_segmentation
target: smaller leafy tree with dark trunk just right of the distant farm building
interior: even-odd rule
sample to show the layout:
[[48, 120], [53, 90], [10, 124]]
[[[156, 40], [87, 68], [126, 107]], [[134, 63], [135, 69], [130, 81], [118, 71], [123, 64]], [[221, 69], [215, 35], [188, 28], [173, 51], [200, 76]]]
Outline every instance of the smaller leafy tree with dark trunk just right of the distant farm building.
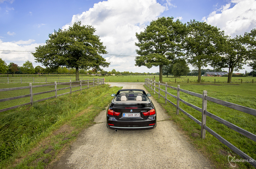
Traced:
[[243, 36], [236, 36], [235, 38], [227, 39], [227, 43], [225, 45], [226, 52], [222, 55], [221, 60], [213, 66], [217, 68], [229, 68], [227, 83], [232, 83], [233, 71], [243, 69], [243, 65], [246, 64], [249, 53], [246, 46], [243, 44], [244, 41]]

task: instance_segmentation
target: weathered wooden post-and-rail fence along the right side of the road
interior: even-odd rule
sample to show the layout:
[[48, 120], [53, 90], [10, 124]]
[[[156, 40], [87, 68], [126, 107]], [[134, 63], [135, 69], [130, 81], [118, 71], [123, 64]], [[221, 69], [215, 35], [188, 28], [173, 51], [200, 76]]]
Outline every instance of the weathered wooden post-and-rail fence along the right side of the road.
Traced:
[[[158, 87], [155, 86], [155, 84], [158, 84]], [[208, 97], [207, 96], [207, 91], [203, 91], [203, 94], [198, 94], [195, 92], [191, 92], [191, 91], [187, 91], [184, 89], [181, 89], [180, 86], [178, 85], [178, 87], [173, 87], [173, 86], [168, 86], [167, 83], [163, 84], [160, 83], [160, 81], [157, 83], [153, 80], [150, 80], [149, 78], [145, 78], [145, 85], [147, 87], [149, 87], [151, 90], [154, 90], [154, 94], [157, 93], [158, 94], [158, 99], [161, 97], [163, 97], [165, 99], [165, 104], [167, 102], [171, 103], [173, 106], [176, 107], [176, 114], [179, 114], [179, 111], [181, 111], [182, 113], [184, 113], [186, 116], [188, 116], [190, 119], [194, 120], [198, 125], [201, 126], [201, 138], [205, 139], [205, 131], [208, 131], [209, 133], [211, 133], [211, 135], [213, 135], [214, 137], [216, 137], [219, 141], [221, 141], [223, 144], [225, 144], [227, 147], [229, 147], [231, 150], [233, 150], [235, 153], [237, 153], [239, 156], [241, 156], [243, 159], [245, 159], [246, 161], [248, 161], [248, 163], [250, 163], [252, 166], [256, 167], [256, 160], [254, 160], [253, 158], [251, 158], [250, 156], [248, 156], [247, 154], [245, 154], [244, 152], [242, 152], [240, 149], [238, 149], [237, 147], [235, 147], [233, 144], [231, 144], [230, 142], [228, 142], [226, 139], [222, 138], [220, 135], [218, 135], [216, 132], [214, 132], [213, 130], [211, 130], [211, 128], [206, 126], [206, 116], [211, 117], [212, 119], [220, 122], [221, 124], [226, 125], [227, 127], [231, 128], [234, 131], [237, 131], [238, 133], [242, 134], [243, 136], [246, 136], [247, 138], [250, 138], [251, 140], [256, 142], [256, 135], [254, 135], [253, 133], [250, 133], [249, 131], [244, 130], [243, 128], [240, 128], [224, 119], [221, 119], [218, 116], [215, 116], [214, 114], [208, 112], [206, 110], [207, 108], [207, 100], [210, 102], [214, 102], [217, 103], [219, 105], [222, 106], [226, 106], [238, 111], [242, 111], [244, 113], [248, 113], [251, 114], [253, 116], [256, 116], [256, 110], [252, 109], [252, 108], [248, 108], [245, 106], [241, 106], [241, 105], [237, 105], [234, 103], [230, 103], [230, 102], [225, 102], [223, 100], [219, 100], [219, 99], [215, 99], [213, 97]], [[165, 90], [160, 88], [160, 85], [165, 86]], [[158, 92], [155, 89], [158, 89]], [[170, 94], [169, 92], [167, 92], [167, 88], [171, 88], [177, 91], [177, 96]], [[165, 96], [160, 94], [160, 91], [165, 92]], [[185, 100], [182, 100], [179, 97], [180, 92], [184, 92], [186, 94], [190, 94], [193, 95], [195, 97], [199, 97], [202, 99], [202, 108], [199, 108], [195, 105], [192, 105], [189, 102], [186, 102]], [[170, 95], [171, 97], [175, 98], [177, 100], [176, 105], [175, 103], [171, 102], [170, 100], [167, 99], [167, 95]], [[186, 111], [182, 110], [179, 107], [179, 102], [184, 103], [187, 106], [190, 106], [192, 108], [194, 108], [197, 111], [200, 111], [202, 113], [202, 121], [200, 122], [199, 120], [197, 120], [195, 117], [191, 116], [189, 113], [187, 113]]]

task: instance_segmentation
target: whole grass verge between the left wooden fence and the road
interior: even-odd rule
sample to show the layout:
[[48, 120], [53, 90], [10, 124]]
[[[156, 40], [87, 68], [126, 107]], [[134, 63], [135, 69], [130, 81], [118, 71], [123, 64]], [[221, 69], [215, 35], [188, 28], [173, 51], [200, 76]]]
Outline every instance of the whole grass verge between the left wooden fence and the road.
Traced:
[[0, 115], [0, 168], [44, 168], [120, 88], [96, 86]]

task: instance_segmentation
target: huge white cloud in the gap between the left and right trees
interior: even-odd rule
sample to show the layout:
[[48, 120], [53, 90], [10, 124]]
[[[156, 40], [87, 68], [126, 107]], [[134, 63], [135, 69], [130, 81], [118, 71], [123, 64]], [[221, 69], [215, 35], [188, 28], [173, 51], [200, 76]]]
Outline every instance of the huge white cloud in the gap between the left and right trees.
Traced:
[[[136, 56], [136, 32], [144, 31], [146, 25], [166, 9], [156, 0], [108, 0], [94, 4], [93, 8], [82, 14], [74, 15], [71, 23], [64, 25], [62, 29], [68, 29], [78, 21], [83, 25], [92, 25], [96, 28], [95, 34], [100, 36], [107, 47], [107, 52]], [[106, 71], [115, 69], [120, 72], [142, 72], [141, 67], [134, 66], [134, 58], [110, 56], [106, 60], [111, 62], [109, 68], [104, 68]], [[153, 68], [150, 70], [153, 71]], [[148, 69], [149, 72], [150, 70]]]

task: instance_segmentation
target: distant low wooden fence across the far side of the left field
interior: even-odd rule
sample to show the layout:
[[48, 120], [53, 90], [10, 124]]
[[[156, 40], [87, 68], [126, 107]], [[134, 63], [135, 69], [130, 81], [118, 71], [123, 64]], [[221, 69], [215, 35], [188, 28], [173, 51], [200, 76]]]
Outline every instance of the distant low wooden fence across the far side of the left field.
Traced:
[[[83, 80], [83, 77], [80, 78]], [[84, 78], [88, 79], [88, 78]], [[94, 78], [89, 78], [94, 79]], [[68, 80], [75, 81], [75, 78], [60, 78], [60, 77], [0, 77], [0, 83], [54, 83], [56, 81], [57, 83], [65, 82]]]

